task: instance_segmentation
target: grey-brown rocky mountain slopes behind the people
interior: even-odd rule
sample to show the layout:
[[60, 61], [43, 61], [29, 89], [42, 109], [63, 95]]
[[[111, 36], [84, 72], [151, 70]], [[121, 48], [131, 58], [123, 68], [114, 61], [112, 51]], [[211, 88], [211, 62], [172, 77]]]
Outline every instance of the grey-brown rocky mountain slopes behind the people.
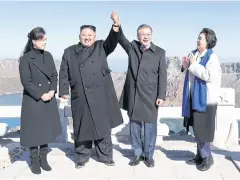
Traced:
[[[57, 70], [60, 61], [55, 61]], [[181, 60], [178, 57], [167, 57], [168, 87], [165, 106], [180, 106], [184, 73], [181, 73]], [[222, 63], [222, 87], [232, 87], [236, 91], [236, 106], [240, 107], [240, 62]], [[125, 72], [113, 72], [112, 78], [117, 96], [120, 97], [125, 82]], [[0, 95], [21, 93], [22, 86], [19, 80], [18, 61], [5, 59], [0, 61]]]

